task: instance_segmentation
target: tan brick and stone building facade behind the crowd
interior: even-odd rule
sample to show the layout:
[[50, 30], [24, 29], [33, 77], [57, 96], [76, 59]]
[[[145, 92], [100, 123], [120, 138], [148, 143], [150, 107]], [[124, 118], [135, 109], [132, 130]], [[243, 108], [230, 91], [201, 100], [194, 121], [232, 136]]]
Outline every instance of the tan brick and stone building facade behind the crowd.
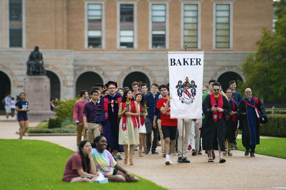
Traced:
[[[167, 51], [204, 51], [204, 81], [245, 78], [240, 64], [272, 29], [272, 0], [0, 0], [0, 94], [23, 90], [36, 44], [52, 98], [95, 83], [168, 83]], [[227, 81], [226, 81], [227, 80]], [[226, 81], [226, 84], [224, 84]]]

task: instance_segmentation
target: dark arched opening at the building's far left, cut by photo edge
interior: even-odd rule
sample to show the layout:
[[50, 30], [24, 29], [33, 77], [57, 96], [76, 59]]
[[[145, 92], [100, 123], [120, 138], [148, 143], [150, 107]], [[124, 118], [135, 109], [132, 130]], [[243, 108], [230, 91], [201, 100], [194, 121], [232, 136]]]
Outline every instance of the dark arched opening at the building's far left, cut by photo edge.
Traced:
[[[9, 77], [4, 73], [0, 71], [0, 113], [5, 114], [4, 106], [5, 102], [2, 103], [2, 100], [6, 97], [7, 93], [11, 92], [11, 82]], [[16, 99], [16, 96], [18, 94], [11, 94], [11, 97], [14, 97]]]

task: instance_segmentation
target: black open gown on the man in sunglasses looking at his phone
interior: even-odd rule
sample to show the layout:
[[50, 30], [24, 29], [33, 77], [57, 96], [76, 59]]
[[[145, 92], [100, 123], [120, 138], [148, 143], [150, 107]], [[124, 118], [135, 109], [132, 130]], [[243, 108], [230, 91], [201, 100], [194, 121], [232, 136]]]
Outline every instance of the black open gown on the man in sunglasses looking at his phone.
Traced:
[[203, 101], [203, 113], [205, 114], [205, 119], [203, 123], [203, 137], [202, 144], [203, 150], [218, 150], [217, 138], [220, 145], [220, 150], [225, 149], [225, 128], [226, 128], [226, 117], [228, 117], [230, 112], [230, 107], [227, 99], [223, 96], [223, 115], [218, 118], [217, 121], [212, 119], [212, 107], [210, 95], [206, 96]]

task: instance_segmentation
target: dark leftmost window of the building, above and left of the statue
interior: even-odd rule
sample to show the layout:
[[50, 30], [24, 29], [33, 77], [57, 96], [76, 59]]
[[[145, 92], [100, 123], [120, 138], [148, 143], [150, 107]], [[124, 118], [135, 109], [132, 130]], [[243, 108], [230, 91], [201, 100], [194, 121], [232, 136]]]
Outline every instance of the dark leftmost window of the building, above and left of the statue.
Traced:
[[9, 46], [22, 47], [22, 1], [9, 1]]

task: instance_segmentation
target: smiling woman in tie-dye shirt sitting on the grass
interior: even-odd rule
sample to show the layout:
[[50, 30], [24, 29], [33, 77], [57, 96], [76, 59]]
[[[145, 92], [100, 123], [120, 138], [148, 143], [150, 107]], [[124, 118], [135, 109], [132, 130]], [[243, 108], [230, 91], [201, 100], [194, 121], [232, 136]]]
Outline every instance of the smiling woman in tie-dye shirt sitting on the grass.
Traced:
[[107, 140], [103, 136], [94, 139], [95, 148], [92, 149], [92, 157], [97, 171], [101, 172], [108, 181], [135, 182], [139, 178], [130, 175], [119, 166], [109, 151], [106, 150]]

